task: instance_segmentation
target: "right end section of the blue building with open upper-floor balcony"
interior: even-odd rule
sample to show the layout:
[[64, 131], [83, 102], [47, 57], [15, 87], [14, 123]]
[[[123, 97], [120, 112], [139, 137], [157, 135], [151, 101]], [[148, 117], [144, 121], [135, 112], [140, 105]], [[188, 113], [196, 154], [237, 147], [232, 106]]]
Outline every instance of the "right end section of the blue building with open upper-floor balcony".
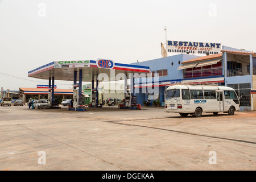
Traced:
[[241, 111], [256, 110], [256, 54], [223, 47], [225, 86], [234, 88], [240, 97]]

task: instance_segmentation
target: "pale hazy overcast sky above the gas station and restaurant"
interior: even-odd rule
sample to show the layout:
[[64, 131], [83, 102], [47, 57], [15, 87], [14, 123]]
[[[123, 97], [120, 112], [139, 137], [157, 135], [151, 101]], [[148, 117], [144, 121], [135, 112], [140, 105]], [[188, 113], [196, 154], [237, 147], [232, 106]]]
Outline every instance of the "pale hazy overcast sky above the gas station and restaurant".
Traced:
[[52, 61], [158, 59], [165, 27], [167, 40], [256, 52], [255, 7], [255, 0], [0, 0], [0, 87], [47, 85], [28, 71]]

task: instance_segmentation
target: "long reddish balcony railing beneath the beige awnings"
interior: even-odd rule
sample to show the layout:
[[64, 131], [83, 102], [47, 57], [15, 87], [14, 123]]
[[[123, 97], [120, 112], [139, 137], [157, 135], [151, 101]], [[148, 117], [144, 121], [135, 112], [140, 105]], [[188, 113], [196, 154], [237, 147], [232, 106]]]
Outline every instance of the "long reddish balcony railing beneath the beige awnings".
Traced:
[[222, 75], [222, 68], [184, 72], [184, 78], [197, 78]]

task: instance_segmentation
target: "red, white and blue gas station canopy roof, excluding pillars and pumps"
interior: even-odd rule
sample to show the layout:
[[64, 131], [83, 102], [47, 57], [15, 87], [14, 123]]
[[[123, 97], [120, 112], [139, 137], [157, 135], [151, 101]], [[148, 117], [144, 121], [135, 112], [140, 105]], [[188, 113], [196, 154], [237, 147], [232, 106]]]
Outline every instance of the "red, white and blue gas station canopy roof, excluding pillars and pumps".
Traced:
[[[123, 73], [126, 76], [129, 73], [151, 73], [149, 67], [131, 64], [114, 63], [112, 60], [98, 59], [81, 60], [81, 61], [53, 61], [52, 63], [43, 65], [28, 72], [28, 77], [40, 78], [47, 80], [50, 77], [55, 77], [55, 80], [72, 81], [74, 73], [82, 70], [82, 81], [92, 81], [97, 78], [100, 73], [105, 73], [109, 77], [117, 76]], [[113, 72], [114, 71], [114, 72]], [[114, 73], [114, 75], [113, 75]], [[143, 74], [142, 74], [143, 75]], [[144, 77], [144, 76], [141, 76]], [[107, 81], [107, 80], [104, 80]]]

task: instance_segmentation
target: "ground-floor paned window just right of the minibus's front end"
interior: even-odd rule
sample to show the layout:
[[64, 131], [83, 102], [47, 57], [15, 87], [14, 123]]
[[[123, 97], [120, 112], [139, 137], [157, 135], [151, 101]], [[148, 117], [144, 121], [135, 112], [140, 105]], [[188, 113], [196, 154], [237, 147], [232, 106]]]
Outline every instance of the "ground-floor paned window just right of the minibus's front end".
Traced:
[[230, 84], [229, 87], [233, 88], [238, 97], [240, 98], [240, 106], [251, 106], [250, 92], [251, 84]]

